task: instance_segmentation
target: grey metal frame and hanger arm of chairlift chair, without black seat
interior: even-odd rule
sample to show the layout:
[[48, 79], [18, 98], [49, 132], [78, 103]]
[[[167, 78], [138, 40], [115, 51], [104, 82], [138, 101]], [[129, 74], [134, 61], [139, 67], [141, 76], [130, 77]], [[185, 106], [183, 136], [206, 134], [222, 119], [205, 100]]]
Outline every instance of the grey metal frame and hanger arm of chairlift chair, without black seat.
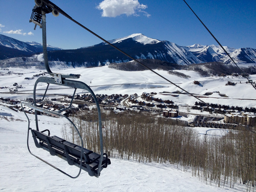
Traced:
[[[33, 103], [28, 103], [28, 102], [21, 102], [21, 107], [22, 107], [22, 110], [23, 112], [25, 113], [27, 119], [28, 119], [28, 136], [27, 136], [27, 147], [28, 147], [28, 151], [31, 155], [35, 156], [36, 158], [40, 159], [41, 161], [45, 162], [46, 164], [50, 165], [51, 167], [57, 169], [58, 171], [60, 171], [61, 173], [71, 177], [71, 178], [77, 178], [80, 173], [81, 173], [81, 169], [82, 169], [82, 157], [84, 155], [83, 153], [83, 139], [76, 127], [76, 125], [74, 125], [74, 123], [69, 119], [67, 118], [65, 115], [62, 115], [60, 114], [62, 111], [65, 111], [67, 109], [69, 109], [72, 105], [72, 102], [73, 102], [73, 99], [74, 99], [74, 95], [76, 93], [76, 90], [77, 89], [83, 89], [83, 90], [87, 90], [89, 91], [89, 93], [91, 93], [91, 95], [93, 96], [93, 99], [96, 103], [96, 106], [97, 106], [97, 110], [98, 110], [98, 118], [99, 118], [99, 139], [100, 139], [100, 159], [99, 159], [99, 166], [98, 166], [98, 169], [97, 169], [97, 174], [95, 173], [92, 173], [91, 169], [87, 169], [88, 170], [88, 173], [90, 176], [96, 176], [96, 177], [99, 177], [100, 175], [100, 171], [105, 168], [106, 166], [101, 166], [102, 164], [102, 160], [103, 160], [103, 140], [102, 140], [102, 123], [101, 123], [101, 112], [100, 112], [100, 106], [99, 106], [99, 102], [95, 96], [95, 94], [93, 93], [93, 91], [91, 90], [91, 88], [81, 82], [81, 81], [75, 81], [75, 80], [69, 80], [69, 79], [66, 79], [66, 78], [71, 78], [71, 79], [78, 79], [80, 77], [79, 74], [60, 74], [60, 73], [53, 73], [49, 67], [49, 63], [48, 63], [48, 56], [47, 56], [47, 44], [46, 44], [46, 14], [47, 13], [50, 13], [50, 12], [54, 12], [56, 11], [54, 9], [54, 6], [56, 6], [55, 4], [52, 4], [50, 1], [41, 1], [41, 0], [35, 0], [35, 3], [36, 5], [34, 6], [33, 8], [33, 12], [32, 12], [32, 15], [31, 15], [31, 19], [30, 19], [30, 22], [33, 22], [33, 15], [34, 15], [34, 12], [35, 12], [35, 9], [37, 9], [37, 13], [38, 13], [38, 10], [41, 10], [41, 19], [42, 19], [42, 23], [40, 24], [40, 28], [42, 28], [42, 42], [43, 42], [43, 54], [44, 54], [44, 62], [45, 62], [45, 67], [46, 67], [46, 70], [47, 72], [53, 76], [53, 77], [39, 77], [36, 82], [35, 82], [35, 85], [34, 85], [34, 92], [33, 92], [33, 97], [34, 97], [34, 102]], [[54, 12], [55, 13], [55, 12]], [[56, 16], [56, 15], [55, 15]], [[36, 25], [38, 25], [38, 22], [33, 22], [35, 23], [35, 28], [36, 28]], [[34, 28], [34, 29], [35, 29]], [[43, 98], [40, 100], [40, 101], [36, 101], [36, 87], [37, 87], [37, 84], [39, 82], [43, 82], [43, 83], [47, 83], [47, 88], [45, 90], [45, 93], [44, 93], [44, 96]], [[70, 105], [68, 108], [65, 108], [65, 109], [62, 109], [62, 110], [59, 110], [57, 112], [52, 112], [52, 111], [49, 111], [49, 110], [46, 110], [46, 109], [42, 109], [42, 108], [39, 108], [36, 106], [36, 103], [38, 102], [41, 102], [44, 100], [45, 96], [46, 96], [46, 92], [48, 90], [48, 87], [49, 87], [49, 84], [55, 84], [55, 85], [61, 85], [61, 86], [66, 86], [66, 87], [72, 87], [74, 88], [74, 93], [73, 93], [73, 96], [72, 96], [72, 99], [71, 99], [71, 102], [70, 102]], [[32, 134], [33, 134], [33, 131], [32, 129], [30, 128], [30, 121], [29, 121], [29, 118], [28, 118], [28, 115], [26, 114], [26, 112], [24, 111], [24, 107], [23, 105], [26, 105], [32, 109], [35, 110], [35, 121], [36, 121], [36, 130], [39, 131], [39, 128], [38, 128], [38, 118], [37, 118], [37, 111], [41, 111], [41, 112], [44, 112], [46, 114], [50, 114], [50, 115], [54, 115], [54, 116], [58, 116], [58, 117], [63, 117], [63, 118], [66, 118], [74, 127], [74, 129], [76, 130], [77, 134], [79, 135], [80, 137], [80, 141], [81, 141], [81, 161], [80, 161], [80, 165], [79, 164], [76, 164], [76, 166], [78, 166], [80, 169], [79, 169], [79, 173], [77, 176], [71, 176], [69, 174], [67, 174], [66, 172], [60, 170], [59, 168], [57, 168], [56, 166], [48, 163], [47, 161], [45, 161], [44, 159], [36, 156], [35, 154], [31, 153], [30, 149], [29, 149], [29, 143], [28, 143], [28, 140], [29, 140], [29, 130], [31, 130]], [[44, 131], [42, 131], [44, 132]], [[41, 132], [41, 133], [42, 133]], [[33, 135], [34, 137], [34, 135]], [[37, 139], [34, 137], [34, 141], [37, 141]], [[37, 147], [40, 147], [40, 148], [44, 148], [47, 150], [46, 147], [43, 147], [43, 146], [39, 146], [40, 144], [37, 142], [36, 143], [35, 141], [35, 145]], [[47, 142], [48, 143], [48, 142]], [[38, 145], [37, 145], [38, 144]], [[52, 152], [51, 150], [51, 146], [49, 146], [49, 143], [48, 143], [48, 148], [49, 148], [49, 152], [51, 155], [55, 155], [54, 152]], [[65, 150], [66, 151], [66, 150]], [[65, 157], [61, 157], [62, 159], [65, 159], [66, 161], [68, 161], [68, 163], [70, 164], [70, 160], [67, 156], [67, 158]], [[106, 158], [106, 164], [108, 164], [108, 159]]]

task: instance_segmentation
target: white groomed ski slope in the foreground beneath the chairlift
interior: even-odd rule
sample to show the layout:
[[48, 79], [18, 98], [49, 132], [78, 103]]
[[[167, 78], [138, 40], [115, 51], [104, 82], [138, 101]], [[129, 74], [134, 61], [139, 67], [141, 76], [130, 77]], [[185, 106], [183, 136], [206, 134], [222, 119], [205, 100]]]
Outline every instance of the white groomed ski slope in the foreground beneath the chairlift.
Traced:
[[[2, 110], [1, 110], [2, 109]], [[14, 112], [0, 106], [0, 112], [12, 114], [13, 120], [0, 120], [0, 190], [1, 191], [246, 191], [246, 185], [229, 184], [219, 188], [199, 177], [184, 172], [180, 166], [160, 163], [138, 163], [133, 160], [111, 158], [111, 165], [103, 169], [99, 178], [87, 172], [71, 179], [29, 154], [27, 149], [27, 120], [23, 112]], [[34, 127], [34, 115], [30, 127]], [[2, 115], [1, 115], [2, 116]], [[61, 136], [62, 118], [39, 117], [39, 128], [51, 129], [51, 134]], [[44, 123], [44, 124], [43, 124]], [[49, 124], [48, 124], [49, 123]], [[54, 124], [55, 123], [55, 124]], [[75, 176], [76, 166], [51, 156], [34, 146], [30, 135], [30, 150], [50, 163]]]

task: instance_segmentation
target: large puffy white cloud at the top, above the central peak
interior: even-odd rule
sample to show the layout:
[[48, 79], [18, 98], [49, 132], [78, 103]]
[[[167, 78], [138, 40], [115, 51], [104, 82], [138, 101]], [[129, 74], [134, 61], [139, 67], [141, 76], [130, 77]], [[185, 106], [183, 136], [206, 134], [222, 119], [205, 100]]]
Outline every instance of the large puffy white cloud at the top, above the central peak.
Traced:
[[147, 12], [142, 11], [147, 8], [147, 5], [140, 4], [138, 0], [104, 0], [97, 8], [103, 10], [102, 17], [116, 17], [122, 14], [139, 16], [138, 13], [150, 16]]

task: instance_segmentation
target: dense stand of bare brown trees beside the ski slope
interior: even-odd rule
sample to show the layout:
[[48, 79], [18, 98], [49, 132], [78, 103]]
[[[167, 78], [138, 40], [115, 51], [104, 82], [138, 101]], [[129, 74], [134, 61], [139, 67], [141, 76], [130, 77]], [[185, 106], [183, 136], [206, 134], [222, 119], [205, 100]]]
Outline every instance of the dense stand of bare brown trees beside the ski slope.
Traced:
[[[218, 187], [234, 183], [255, 189], [256, 136], [245, 130], [231, 130], [223, 136], [200, 136], [190, 127], [175, 125], [150, 113], [102, 114], [103, 145], [109, 157], [180, 165]], [[84, 140], [84, 147], [100, 152], [96, 112], [72, 116]], [[71, 129], [70, 129], [71, 128]], [[72, 127], [63, 127], [67, 141], [80, 144]]]

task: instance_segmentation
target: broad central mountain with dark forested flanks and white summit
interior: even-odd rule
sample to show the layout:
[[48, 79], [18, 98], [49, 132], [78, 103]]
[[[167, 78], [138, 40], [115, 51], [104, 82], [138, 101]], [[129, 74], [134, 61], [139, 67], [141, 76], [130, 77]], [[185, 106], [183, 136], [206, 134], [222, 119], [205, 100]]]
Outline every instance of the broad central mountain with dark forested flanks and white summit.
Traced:
[[[143, 34], [132, 34], [109, 42], [136, 59], [159, 59], [180, 65], [203, 62], [192, 52], [175, 43], [148, 38]], [[69, 62], [88, 66], [132, 60], [105, 42], [80, 49], [49, 51], [48, 57], [53, 61], [67, 61], [69, 59]]]

